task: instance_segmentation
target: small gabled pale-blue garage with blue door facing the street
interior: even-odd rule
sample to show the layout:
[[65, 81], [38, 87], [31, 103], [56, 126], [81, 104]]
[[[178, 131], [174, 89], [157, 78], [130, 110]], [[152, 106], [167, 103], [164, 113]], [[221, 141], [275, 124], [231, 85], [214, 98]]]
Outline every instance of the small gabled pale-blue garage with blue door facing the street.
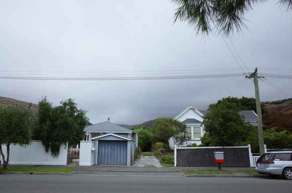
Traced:
[[91, 138], [94, 141], [94, 164], [132, 165], [134, 161], [135, 141], [115, 133]]

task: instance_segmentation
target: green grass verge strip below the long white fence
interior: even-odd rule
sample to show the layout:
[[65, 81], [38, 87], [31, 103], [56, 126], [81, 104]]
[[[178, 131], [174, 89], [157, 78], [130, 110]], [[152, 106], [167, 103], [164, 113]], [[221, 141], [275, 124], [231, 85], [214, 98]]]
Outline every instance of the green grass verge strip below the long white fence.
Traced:
[[7, 169], [0, 168], [0, 172], [5, 171], [37, 171], [37, 172], [60, 172], [69, 173], [76, 170], [76, 168], [45, 168], [45, 167], [8, 167]]

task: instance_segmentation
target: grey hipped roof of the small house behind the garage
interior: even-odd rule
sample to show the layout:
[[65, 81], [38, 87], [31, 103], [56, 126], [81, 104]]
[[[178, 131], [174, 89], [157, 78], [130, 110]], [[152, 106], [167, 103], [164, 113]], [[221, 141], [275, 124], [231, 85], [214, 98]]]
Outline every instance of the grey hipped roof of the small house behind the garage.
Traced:
[[111, 122], [102, 122], [94, 125], [87, 126], [85, 131], [97, 131], [97, 132], [112, 132], [112, 133], [132, 133], [133, 131]]

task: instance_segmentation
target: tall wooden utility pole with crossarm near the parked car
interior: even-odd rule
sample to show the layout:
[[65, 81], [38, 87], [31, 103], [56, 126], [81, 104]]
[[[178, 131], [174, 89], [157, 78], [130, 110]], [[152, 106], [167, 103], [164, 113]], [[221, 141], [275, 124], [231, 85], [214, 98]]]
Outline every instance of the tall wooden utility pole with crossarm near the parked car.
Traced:
[[259, 92], [259, 84], [258, 78], [264, 78], [263, 76], [258, 77], [258, 69], [256, 68], [253, 73], [246, 78], [254, 79], [254, 89], [255, 89], [255, 98], [256, 98], [256, 108], [257, 108], [257, 117], [258, 117], [258, 136], [259, 136], [259, 147], [260, 154], [262, 155], [265, 152], [264, 148], [264, 136], [263, 136], [263, 122], [262, 122], [262, 110], [261, 110], [261, 102], [260, 102], [260, 92]]

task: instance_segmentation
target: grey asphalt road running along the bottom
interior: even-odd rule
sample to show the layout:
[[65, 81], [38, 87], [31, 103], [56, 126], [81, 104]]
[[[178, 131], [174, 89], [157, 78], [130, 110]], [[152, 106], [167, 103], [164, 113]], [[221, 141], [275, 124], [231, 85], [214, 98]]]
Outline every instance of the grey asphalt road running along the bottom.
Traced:
[[0, 174], [0, 192], [291, 192], [292, 180], [254, 177], [131, 177]]

